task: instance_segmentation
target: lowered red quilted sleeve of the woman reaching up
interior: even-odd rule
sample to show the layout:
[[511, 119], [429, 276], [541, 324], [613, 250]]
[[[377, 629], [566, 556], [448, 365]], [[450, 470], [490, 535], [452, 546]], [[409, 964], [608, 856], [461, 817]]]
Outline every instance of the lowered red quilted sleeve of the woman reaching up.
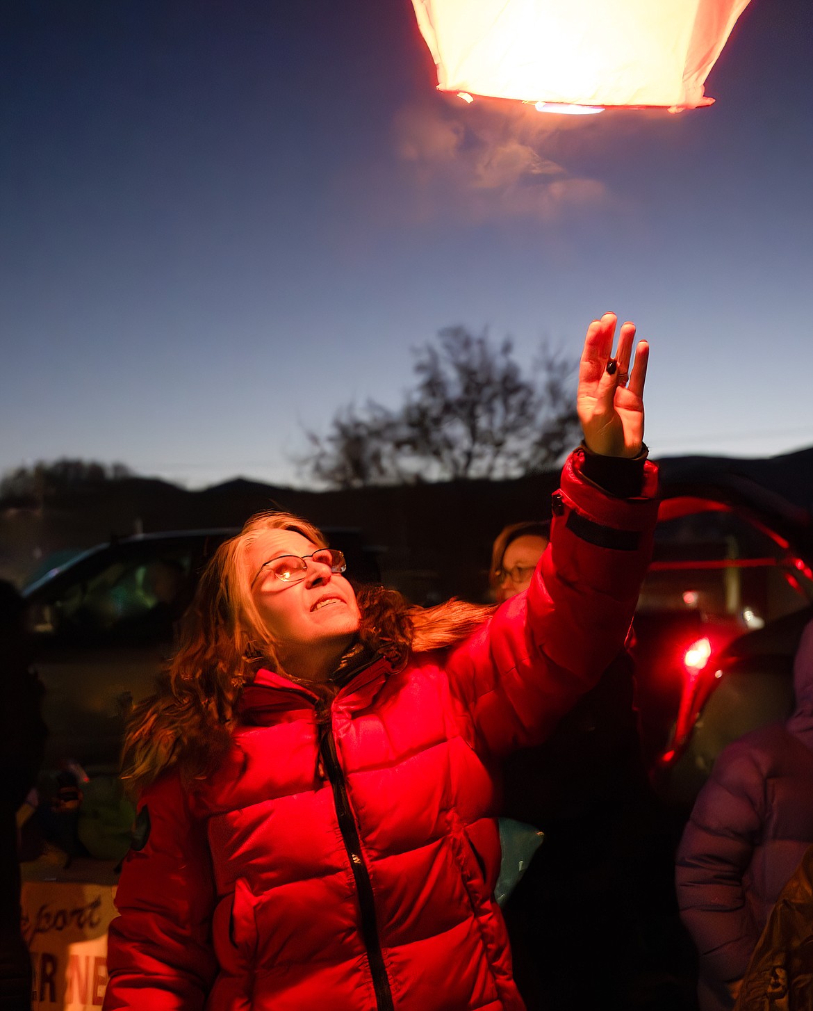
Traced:
[[179, 777], [144, 791], [133, 848], [110, 925], [105, 1011], [199, 1011], [217, 966], [211, 946], [214, 885], [202, 824]]

